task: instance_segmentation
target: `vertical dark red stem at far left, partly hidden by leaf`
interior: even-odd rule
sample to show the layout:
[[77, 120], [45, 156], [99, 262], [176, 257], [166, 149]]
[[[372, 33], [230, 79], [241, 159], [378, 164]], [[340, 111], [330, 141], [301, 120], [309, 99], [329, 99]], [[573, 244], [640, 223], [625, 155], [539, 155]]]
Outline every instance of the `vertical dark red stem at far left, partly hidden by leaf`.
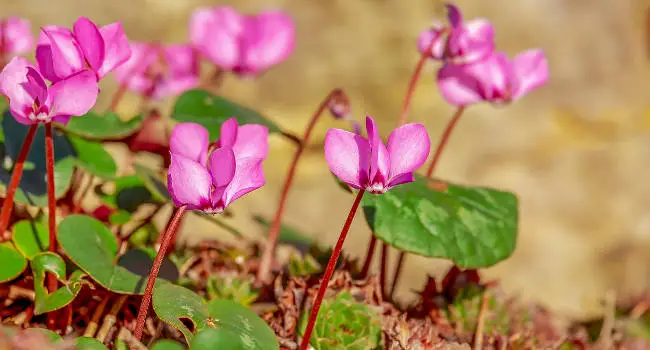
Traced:
[[[56, 254], [56, 197], [54, 189], [54, 140], [52, 139], [52, 122], [45, 123], [45, 167], [47, 171], [47, 208], [50, 252]], [[58, 282], [54, 274], [47, 274], [47, 289], [50, 293], [56, 291]], [[48, 328], [56, 323], [54, 313], [48, 314]]]

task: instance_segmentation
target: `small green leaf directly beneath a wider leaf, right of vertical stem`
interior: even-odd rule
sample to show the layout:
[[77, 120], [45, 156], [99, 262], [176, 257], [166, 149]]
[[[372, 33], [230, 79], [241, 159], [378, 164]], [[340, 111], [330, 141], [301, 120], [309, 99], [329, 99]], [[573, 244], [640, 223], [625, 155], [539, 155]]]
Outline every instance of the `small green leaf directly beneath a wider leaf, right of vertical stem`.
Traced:
[[101, 179], [110, 180], [115, 177], [117, 164], [103, 144], [74, 135], [69, 135], [68, 139], [79, 167]]

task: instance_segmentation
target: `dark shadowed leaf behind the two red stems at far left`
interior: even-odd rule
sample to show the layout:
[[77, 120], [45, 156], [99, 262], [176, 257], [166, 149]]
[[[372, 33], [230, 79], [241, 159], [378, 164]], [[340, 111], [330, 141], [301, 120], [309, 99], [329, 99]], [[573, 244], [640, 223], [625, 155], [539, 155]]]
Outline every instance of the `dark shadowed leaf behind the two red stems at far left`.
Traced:
[[[5, 113], [5, 114], [8, 114]], [[2, 129], [5, 134], [4, 143], [0, 145], [0, 156], [3, 157], [5, 165], [15, 164], [16, 158], [27, 135], [28, 127], [19, 124], [11, 115], [2, 118]], [[54, 192], [56, 198], [63, 197], [70, 189], [72, 172], [75, 159], [74, 150], [70, 142], [57, 130], [53, 133], [54, 141]], [[21, 204], [28, 204], [37, 207], [47, 206], [47, 182], [45, 166], [45, 128], [39, 126], [34, 136], [34, 141], [27, 156], [30, 163], [29, 170], [23, 172], [15, 201]], [[11, 179], [11, 171], [0, 167], [0, 186], [5, 187]]]

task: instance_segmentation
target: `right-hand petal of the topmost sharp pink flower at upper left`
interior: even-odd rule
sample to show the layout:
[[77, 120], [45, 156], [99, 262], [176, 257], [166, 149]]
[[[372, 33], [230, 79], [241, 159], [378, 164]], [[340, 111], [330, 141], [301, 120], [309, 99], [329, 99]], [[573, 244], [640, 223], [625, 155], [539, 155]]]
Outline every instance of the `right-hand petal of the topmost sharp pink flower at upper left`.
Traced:
[[104, 41], [104, 61], [97, 74], [102, 78], [129, 60], [131, 47], [120, 22], [103, 26], [99, 32]]

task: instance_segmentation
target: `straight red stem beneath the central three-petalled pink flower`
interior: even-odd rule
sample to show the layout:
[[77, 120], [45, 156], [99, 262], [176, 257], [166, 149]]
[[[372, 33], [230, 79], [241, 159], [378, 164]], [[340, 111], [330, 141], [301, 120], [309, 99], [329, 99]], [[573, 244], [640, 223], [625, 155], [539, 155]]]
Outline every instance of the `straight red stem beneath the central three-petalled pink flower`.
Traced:
[[334, 246], [330, 260], [327, 262], [325, 274], [323, 275], [323, 279], [320, 282], [320, 287], [318, 287], [318, 294], [316, 295], [316, 299], [314, 299], [314, 304], [311, 308], [311, 313], [309, 314], [309, 320], [307, 321], [305, 334], [303, 335], [302, 341], [300, 342], [300, 350], [307, 350], [307, 347], [309, 346], [309, 340], [311, 339], [311, 334], [314, 331], [314, 326], [316, 324], [316, 318], [318, 317], [318, 310], [320, 310], [320, 305], [323, 302], [323, 297], [327, 291], [327, 285], [329, 284], [329, 281], [334, 274], [334, 268], [336, 267], [336, 263], [339, 260], [339, 256], [341, 255], [341, 249], [343, 248], [345, 237], [348, 235], [348, 231], [350, 231], [350, 225], [352, 225], [352, 220], [354, 220], [354, 215], [359, 208], [359, 204], [361, 203], [361, 198], [363, 198], [364, 193], [365, 190], [360, 190], [359, 193], [357, 193], [357, 197], [354, 199], [354, 203], [352, 204], [352, 208], [350, 208], [348, 218], [345, 220], [345, 224], [343, 225], [343, 229], [339, 235], [339, 240], [336, 242], [336, 246]]

